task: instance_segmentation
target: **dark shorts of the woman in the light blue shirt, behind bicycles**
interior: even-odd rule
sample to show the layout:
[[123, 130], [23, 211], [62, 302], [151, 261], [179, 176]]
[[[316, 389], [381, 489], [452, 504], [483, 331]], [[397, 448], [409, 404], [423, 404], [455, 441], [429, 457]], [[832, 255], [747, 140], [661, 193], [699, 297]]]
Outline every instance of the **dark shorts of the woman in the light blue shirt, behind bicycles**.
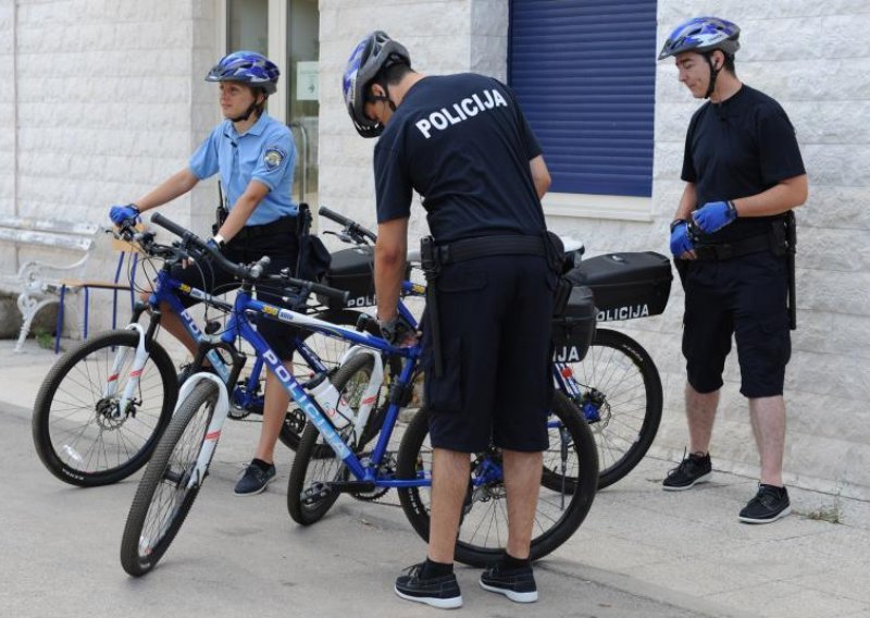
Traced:
[[[226, 244], [223, 254], [228, 260], [241, 263], [254, 262], [263, 256], [269, 256], [271, 262], [266, 273], [276, 273], [285, 268], [289, 268], [290, 273], [295, 273], [296, 263], [299, 259], [299, 237], [296, 234], [274, 234], [245, 240], [234, 238]], [[208, 258], [187, 268], [175, 267], [172, 270], [172, 276], [182, 283], [198, 287], [209, 294], [231, 292], [237, 289], [240, 285], [238, 280]], [[258, 289], [256, 296], [263, 302], [284, 306], [279, 294]], [[179, 298], [185, 307], [191, 307], [200, 302], [200, 300], [190, 296], [181, 296]], [[295, 341], [300, 332], [299, 329], [263, 317], [259, 317], [254, 323], [258, 332], [279, 359], [289, 360], [293, 358]]]

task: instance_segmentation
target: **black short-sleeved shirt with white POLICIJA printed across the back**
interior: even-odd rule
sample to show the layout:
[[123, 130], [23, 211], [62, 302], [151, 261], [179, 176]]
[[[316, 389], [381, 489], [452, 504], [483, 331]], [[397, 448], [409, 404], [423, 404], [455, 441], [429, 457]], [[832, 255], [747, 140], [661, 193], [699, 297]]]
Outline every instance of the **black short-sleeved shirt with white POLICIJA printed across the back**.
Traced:
[[544, 212], [529, 168], [538, 154], [507, 86], [472, 73], [424, 77], [375, 146], [377, 221], [409, 217], [417, 190], [438, 243], [540, 234]]

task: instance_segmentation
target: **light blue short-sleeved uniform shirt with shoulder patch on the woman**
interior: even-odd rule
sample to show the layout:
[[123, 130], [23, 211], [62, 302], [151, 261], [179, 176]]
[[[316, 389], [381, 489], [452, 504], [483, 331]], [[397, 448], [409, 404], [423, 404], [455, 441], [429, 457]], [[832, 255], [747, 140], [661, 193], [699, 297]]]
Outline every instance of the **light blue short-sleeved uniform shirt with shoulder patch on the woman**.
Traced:
[[232, 209], [248, 184], [258, 181], [270, 188], [246, 225], [264, 225], [295, 215], [290, 197], [296, 146], [290, 129], [265, 112], [247, 133], [239, 135], [225, 120], [211, 132], [190, 157], [190, 171], [200, 181], [221, 173], [221, 183]]

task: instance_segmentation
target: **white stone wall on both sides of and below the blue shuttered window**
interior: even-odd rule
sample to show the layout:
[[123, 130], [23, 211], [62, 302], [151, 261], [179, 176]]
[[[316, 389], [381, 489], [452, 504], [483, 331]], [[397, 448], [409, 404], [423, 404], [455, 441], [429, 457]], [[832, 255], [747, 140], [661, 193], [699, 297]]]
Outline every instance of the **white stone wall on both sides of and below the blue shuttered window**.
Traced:
[[[799, 209], [798, 322], [786, 380], [786, 482], [870, 496], [870, 4], [866, 0], [659, 0], [660, 46], [680, 21], [717, 14], [743, 28], [737, 72], [790, 114], [810, 177]], [[426, 73], [480, 71], [505, 77], [507, 2], [321, 1], [321, 196], [323, 203], [374, 222], [372, 141], [362, 140], [341, 106], [339, 79], [350, 49], [374, 28], [406, 44]], [[606, 66], [602, 66], [606, 70]], [[583, 238], [588, 255], [668, 254], [668, 223], [682, 183], [683, 139], [698, 102], [658, 65], [654, 221], [551, 217], [557, 231]], [[546, 154], [546, 153], [545, 153]], [[425, 232], [422, 208], [413, 234]], [[662, 373], [666, 410], [652, 454], [679, 459], [686, 442], [680, 351], [683, 294], [668, 311], [618, 325], [638, 338]], [[719, 469], [757, 474], [757, 454], [739, 372], [732, 358], [712, 453]], [[667, 471], [662, 467], [662, 477]]]

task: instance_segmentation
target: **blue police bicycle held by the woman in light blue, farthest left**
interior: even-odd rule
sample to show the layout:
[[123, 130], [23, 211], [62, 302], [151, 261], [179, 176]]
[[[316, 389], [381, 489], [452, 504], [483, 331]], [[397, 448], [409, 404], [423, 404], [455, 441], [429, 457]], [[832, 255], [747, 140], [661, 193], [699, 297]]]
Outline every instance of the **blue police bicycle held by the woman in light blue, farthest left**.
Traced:
[[[123, 227], [120, 235], [133, 238], [136, 230]], [[178, 394], [177, 369], [156, 339], [160, 326], [160, 304], [165, 302], [183, 317], [195, 341], [219, 332], [220, 319], [197, 322], [181, 298], [190, 296], [225, 317], [232, 305], [201, 289], [182, 285], [171, 276], [172, 267], [182, 260], [174, 247], [139, 235], [142, 252], [162, 268], [152, 273], [153, 289], [148, 305], [138, 304], [126, 329], [91, 336], [64, 354], [45, 378], [34, 405], [32, 419], [36, 452], [46, 468], [58, 479], [79, 486], [98, 486], [121, 481], [148, 461], [172, 418]], [[147, 270], [150, 260], [145, 260]], [[196, 268], [190, 265], [189, 268]], [[149, 320], [140, 324], [142, 313]], [[311, 311], [326, 321], [353, 325], [359, 314], [341, 308], [312, 306]], [[376, 323], [366, 326], [378, 332]], [[293, 357], [297, 375], [315, 375], [324, 368], [334, 371], [347, 343], [304, 331], [297, 337]], [[217, 375], [233, 387], [229, 417], [243, 420], [262, 415], [264, 364], [254, 358], [251, 371], [231, 379], [231, 367], [214, 350], [209, 361]], [[304, 413], [295, 403], [288, 408], [281, 440], [290, 448], [299, 444]]]

